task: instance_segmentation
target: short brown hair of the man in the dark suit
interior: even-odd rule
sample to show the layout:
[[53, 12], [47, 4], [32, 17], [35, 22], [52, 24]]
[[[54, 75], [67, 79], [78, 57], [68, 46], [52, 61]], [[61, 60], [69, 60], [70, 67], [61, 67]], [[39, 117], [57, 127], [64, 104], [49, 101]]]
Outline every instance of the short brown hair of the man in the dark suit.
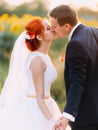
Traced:
[[60, 26], [63, 26], [65, 23], [75, 26], [78, 22], [77, 12], [69, 5], [62, 4], [55, 7], [49, 12], [49, 16], [57, 19]]

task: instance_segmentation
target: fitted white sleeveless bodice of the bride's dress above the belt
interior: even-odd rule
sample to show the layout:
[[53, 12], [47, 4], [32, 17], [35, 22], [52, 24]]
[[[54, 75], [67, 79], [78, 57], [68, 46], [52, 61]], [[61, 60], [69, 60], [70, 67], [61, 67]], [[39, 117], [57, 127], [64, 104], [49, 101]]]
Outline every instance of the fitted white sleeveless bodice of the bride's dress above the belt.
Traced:
[[40, 56], [43, 60], [43, 62], [46, 64], [46, 70], [44, 73], [44, 92], [45, 96], [50, 96], [50, 88], [51, 84], [55, 81], [57, 77], [57, 71], [55, 67], [53, 66], [51, 59], [48, 55], [45, 55], [41, 52], [32, 52], [30, 53], [27, 61], [27, 77], [28, 77], [28, 90], [27, 94], [36, 95], [35, 92], [35, 86], [32, 78], [32, 73], [30, 70], [30, 64], [33, 58], [36, 56]]

